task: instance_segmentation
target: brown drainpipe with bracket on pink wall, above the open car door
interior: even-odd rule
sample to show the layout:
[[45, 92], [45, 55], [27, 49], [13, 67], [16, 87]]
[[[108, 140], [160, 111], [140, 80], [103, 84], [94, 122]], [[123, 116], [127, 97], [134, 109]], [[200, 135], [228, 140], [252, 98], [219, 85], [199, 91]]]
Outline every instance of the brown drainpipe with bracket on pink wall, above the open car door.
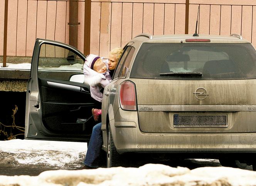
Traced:
[[78, 0], [69, 0], [69, 44], [77, 48]]

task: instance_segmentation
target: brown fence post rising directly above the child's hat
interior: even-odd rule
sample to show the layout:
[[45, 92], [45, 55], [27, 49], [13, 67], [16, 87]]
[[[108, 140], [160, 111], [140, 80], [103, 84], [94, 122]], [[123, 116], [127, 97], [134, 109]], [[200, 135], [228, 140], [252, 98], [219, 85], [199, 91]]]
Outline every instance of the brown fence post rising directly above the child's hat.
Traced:
[[84, 54], [88, 55], [91, 40], [91, 0], [86, 0], [84, 10]]

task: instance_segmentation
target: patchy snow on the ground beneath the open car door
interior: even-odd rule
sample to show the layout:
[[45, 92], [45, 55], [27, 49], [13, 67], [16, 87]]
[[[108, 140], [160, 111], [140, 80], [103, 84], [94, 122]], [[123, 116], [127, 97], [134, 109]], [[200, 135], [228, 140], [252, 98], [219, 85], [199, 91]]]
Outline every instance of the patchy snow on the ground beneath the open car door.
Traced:
[[66, 164], [76, 163], [77, 160], [83, 161], [87, 144], [84, 142], [13, 139], [0, 141], [0, 151], [25, 154], [25, 156], [13, 156], [14, 161], [20, 164], [44, 163], [62, 168]]

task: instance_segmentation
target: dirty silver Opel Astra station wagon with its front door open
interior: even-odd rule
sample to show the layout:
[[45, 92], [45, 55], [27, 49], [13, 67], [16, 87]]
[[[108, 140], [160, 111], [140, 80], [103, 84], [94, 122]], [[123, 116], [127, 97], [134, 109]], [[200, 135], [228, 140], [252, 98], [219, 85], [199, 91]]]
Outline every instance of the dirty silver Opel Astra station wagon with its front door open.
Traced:
[[[46, 67], [56, 60], [46, 55], [51, 47], [63, 48], [66, 63], [82, 65], [85, 59], [69, 45], [37, 40], [26, 139], [88, 141], [95, 122], [87, 119], [97, 103], [83, 81], [72, 80], [83, 76], [79, 70]], [[141, 154], [254, 165], [255, 90], [256, 51], [240, 35], [136, 36], [104, 89], [101, 129], [108, 167], [125, 166]]]

